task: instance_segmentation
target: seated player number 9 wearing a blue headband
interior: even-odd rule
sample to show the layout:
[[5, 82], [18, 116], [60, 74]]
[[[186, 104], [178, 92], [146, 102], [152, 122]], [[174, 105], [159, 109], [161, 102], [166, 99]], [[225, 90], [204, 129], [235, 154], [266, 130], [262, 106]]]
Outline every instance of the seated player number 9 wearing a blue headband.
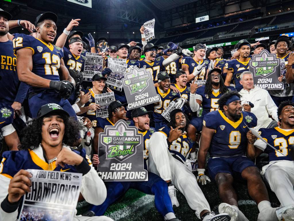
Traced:
[[[242, 111], [241, 95], [235, 91], [226, 93], [218, 100], [220, 110], [204, 116], [200, 148], [198, 151], [198, 176], [202, 184], [210, 179], [204, 175], [207, 151], [208, 172], [218, 185], [221, 203], [219, 212], [227, 212], [232, 220], [248, 221], [238, 209], [237, 194], [233, 188], [234, 179], [247, 181], [248, 193], [256, 202], [259, 221], [274, 221], [283, 213], [283, 208], [272, 208], [268, 192], [261, 179], [259, 169], [245, 156], [248, 127], [257, 124], [253, 113]], [[247, 126], [248, 127], [247, 127]], [[280, 210], [282, 209], [282, 210]]]

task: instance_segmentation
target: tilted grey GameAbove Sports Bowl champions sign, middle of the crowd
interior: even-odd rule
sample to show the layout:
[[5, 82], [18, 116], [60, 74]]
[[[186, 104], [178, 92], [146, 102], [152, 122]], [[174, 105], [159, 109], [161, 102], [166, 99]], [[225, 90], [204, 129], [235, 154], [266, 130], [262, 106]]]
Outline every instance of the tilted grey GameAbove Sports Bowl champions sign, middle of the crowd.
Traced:
[[128, 110], [160, 101], [151, 73], [146, 68], [134, 66], [121, 80], [128, 101]]

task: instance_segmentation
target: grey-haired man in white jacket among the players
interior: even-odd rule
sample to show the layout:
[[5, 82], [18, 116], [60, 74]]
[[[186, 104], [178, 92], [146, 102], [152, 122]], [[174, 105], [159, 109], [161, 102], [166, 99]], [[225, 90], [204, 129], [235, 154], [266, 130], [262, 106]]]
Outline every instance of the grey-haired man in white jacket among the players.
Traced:
[[[254, 86], [252, 72], [244, 71], [240, 75], [240, 84], [243, 86], [243, 89], [239, 92], [242, 95], [242, 104], [250, 101], [254, 105], [251, 108], [251, 113], [254, 113], [257, 117], [257, 126], [255, 129], [259, 130], [260, 128], [273, 128], [278, 126], [278, 107], [273, 102], [267, 90]], [[272, 116], [274, 121], [269, 115]]]

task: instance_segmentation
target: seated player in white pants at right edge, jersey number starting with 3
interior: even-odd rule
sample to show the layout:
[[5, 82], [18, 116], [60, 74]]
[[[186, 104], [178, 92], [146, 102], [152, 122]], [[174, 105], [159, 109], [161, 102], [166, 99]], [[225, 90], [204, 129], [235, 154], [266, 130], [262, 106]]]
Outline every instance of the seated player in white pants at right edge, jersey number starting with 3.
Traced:
[[[277, 151], [266, 143], [248, 133], [248, 157], [254, 159], [263, 151], [269, 154], [269, 164], [263, 166], [261, 174], [275, 192], [282, 206], [294, 204], [294, 161], [289, 156], [289, 145], [294, 144], [294, 103], [281, 102], [278, 108], [280, 126], [275, 128], [260, 128], [259, 134]], [[293, 151], [293, 150], [291, 150]], [[293, 212], [293, 210], [292, 210]], [[294, 213], [292, 213], [294, 218]]]

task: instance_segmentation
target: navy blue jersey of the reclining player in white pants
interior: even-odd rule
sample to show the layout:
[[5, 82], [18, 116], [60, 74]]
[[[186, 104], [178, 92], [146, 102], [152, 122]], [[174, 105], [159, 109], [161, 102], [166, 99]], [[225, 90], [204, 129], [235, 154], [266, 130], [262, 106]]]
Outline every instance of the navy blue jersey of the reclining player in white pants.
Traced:
[[[169, 127], [163, 127], [158, 130], [158, 132], [164, 133], [167, 138], [169, 137], [169, 131], [171, 131], [171, 128]], [[173, 141], [173, 143], [168, 147], [168, 150], [172, 154], [178, 155], [185, 162], [189, 156], [192, 146], [193, 141], [186, 135], [183, 135]]]

